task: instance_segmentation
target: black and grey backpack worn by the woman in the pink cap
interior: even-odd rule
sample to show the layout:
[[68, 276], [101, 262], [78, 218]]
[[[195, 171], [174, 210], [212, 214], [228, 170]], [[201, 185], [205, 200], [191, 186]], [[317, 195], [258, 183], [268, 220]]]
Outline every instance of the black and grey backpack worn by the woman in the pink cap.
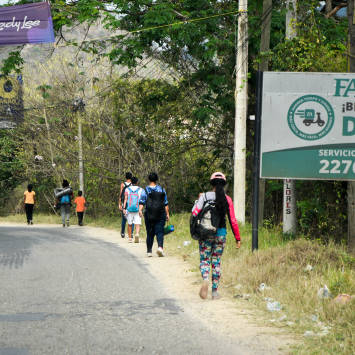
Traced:
[[195, 240], [204, 240], [215, 235], [221, 220], [216, 205], [207, 201], [206, 195], [205, 199], [200, 213], [190, 218], [190, 233], [192, 239]]

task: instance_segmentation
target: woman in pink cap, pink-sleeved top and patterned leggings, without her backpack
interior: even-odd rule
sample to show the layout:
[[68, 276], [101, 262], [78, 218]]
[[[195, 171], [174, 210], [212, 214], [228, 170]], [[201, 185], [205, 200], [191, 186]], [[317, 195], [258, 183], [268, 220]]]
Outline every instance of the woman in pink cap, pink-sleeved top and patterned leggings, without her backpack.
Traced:
[[235, 218], [232, 199], [224, 193], [226, 185], [226, 177], [220, 172], [212, 174], [210, 183], [213, 187], [212, 191], [200, 194], [199, 200], [192, 211], [194, 216], [202, 210], [205, 201], [215, 204], [216, 211], [220, 217], [220, 223], [217, 232], [209, 239], [199, 241], [200, 251], [200, 270], [203, 277], [202, 286], [200, 289], [200, 297], [207, 298], [210, 265], [212, 261], [212, 299], [221, 298], [218, 294], [218, 284], [221, 277], [221, 257], [226, 245], [226, 215], [228, 216], [234, 238], [236, 240], [236, 249], [241, 247], [238, 222]]

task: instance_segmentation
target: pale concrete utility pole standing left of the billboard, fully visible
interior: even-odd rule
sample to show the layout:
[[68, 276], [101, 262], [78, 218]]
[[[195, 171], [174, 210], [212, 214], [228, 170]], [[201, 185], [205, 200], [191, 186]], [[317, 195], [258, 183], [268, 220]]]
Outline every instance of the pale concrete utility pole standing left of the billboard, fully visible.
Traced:
[[238, 43], [235, 88], [234, 210], [238, 222], [245, 223], [245, 150], [248, 109], [248, 0], [239, 0]]

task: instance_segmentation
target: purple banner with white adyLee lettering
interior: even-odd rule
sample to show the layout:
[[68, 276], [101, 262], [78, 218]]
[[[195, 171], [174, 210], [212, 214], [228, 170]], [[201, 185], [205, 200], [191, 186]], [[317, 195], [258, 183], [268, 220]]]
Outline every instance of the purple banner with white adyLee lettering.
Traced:
[[0, 46], [54, 41], [48, 2], [0, 8]]

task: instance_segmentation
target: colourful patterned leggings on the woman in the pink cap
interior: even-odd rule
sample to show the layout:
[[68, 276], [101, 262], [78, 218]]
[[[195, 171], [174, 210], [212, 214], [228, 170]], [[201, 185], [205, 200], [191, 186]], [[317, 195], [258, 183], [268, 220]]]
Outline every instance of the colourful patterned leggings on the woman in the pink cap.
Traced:
[[212, 259], [212, 291], [217, 291], [221, 277], [221, 257], [226, 246], [226, 236], [200, 240], [200, 270], [204, 280], [209, 279]]

